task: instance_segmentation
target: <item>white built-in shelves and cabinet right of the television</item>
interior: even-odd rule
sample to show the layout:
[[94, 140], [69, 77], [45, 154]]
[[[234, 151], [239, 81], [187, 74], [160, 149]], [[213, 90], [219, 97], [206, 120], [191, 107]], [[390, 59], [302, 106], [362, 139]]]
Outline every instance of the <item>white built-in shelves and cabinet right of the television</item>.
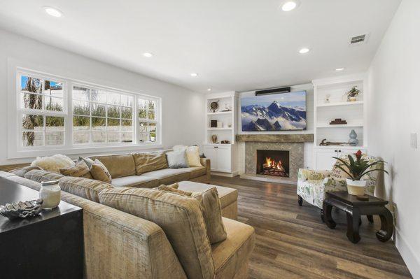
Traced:
[[[365, 73], [335, 78], [313, 80], [314, 85], [314, 164], [316, 169], [331, 169], [335, 159], [342, 154], [362, 150], [367, 152], [366, 99], [367, 75]], [[361, 94], [356, 101], [347, 101], [346, 92], [357, 86]], [[325, 101], [326, 96], [329, 101]], [[335, 118], [346, 120], [347, 124], [330, 124]], [[357, 146], [320, 146], [326, 138], [330, 142], [347, 143], [351, 130], [356, 131]]]

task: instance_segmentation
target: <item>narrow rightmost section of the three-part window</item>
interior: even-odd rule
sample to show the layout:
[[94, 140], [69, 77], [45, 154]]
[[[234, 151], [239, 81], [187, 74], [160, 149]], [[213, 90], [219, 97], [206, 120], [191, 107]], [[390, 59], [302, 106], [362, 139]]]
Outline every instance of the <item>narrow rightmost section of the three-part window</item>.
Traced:
[[137, 99], [139, 142], [154, 143], [156, 141], [156, 127], [158, 127], [157, 103], [153, 99]]

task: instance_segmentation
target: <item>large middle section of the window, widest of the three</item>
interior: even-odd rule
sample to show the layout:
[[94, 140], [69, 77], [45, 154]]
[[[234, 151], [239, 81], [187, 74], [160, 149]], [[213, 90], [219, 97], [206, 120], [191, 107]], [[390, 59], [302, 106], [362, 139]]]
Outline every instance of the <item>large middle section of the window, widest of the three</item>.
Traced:
[[73, 86], [73, 144], [132, 143], [134, 96]]

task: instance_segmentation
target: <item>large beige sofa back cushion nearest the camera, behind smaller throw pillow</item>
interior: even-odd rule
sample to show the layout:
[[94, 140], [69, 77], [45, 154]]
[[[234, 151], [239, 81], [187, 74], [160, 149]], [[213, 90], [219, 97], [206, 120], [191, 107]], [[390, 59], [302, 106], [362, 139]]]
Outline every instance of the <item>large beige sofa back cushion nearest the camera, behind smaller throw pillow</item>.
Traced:
[[167, 235], [188, 278], [214, 278], [214, 263], [197, 200], [155, 189], [104, 189], [99, 201], [158, 224]]

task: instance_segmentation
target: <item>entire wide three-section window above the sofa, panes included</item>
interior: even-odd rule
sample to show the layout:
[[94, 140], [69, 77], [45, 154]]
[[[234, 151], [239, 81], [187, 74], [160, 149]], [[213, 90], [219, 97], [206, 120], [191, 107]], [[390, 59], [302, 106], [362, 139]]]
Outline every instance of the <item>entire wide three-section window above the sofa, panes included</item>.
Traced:
[[160, 98], [16, 69], [10, 158], [160, 144]]

